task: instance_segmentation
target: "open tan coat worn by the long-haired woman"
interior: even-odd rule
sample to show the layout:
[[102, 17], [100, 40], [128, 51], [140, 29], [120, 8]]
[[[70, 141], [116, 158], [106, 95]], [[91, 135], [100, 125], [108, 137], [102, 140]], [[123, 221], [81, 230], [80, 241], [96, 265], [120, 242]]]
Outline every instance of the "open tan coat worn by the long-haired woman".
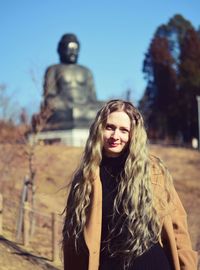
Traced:
[[[161, 245], [171, 256], [175, 270], [197, 270], [197, 253], [192, 250], [187, 229], [187, 216], [182, 203], [171, 185], [172, 199], [165, 200], [164, 177], [156, 164], [152, 164], [152, 188], [158, 198], [157, 211], [162, 224]], [[161, 203], [162, 201], [162, 203]], [[164, 203], [163, 203], [164, 202]], [[70, 252], [70, 244], [64, 248], [65, 270], [98, 270], [102, 222], [102, 186], [99, 171], [93, 182], [93, 196], [84, 239], [88, 252]]]

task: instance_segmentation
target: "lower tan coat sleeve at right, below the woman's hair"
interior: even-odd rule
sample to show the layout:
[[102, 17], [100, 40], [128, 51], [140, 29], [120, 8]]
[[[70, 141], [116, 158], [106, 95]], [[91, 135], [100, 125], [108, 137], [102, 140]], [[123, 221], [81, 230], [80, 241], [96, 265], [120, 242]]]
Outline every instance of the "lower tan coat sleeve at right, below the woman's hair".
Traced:
[[187, 214], [173, 184], [171, 186], [171, 200], [174, 208], [172, 207], [170, 216], [176, 241], [180, 269], [197, 270], [197, 252], [192, 250], [187, 225]]

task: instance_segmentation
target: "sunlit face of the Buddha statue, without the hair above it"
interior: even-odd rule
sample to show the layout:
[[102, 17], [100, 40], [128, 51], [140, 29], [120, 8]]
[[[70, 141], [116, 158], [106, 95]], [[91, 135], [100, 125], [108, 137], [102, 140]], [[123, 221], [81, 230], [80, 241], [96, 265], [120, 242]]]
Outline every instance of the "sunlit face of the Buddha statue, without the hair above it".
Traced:
[[62, 51], [62, 62], [74, 64], [77, 62], [79, 46], [76, 42], [69, 42]]

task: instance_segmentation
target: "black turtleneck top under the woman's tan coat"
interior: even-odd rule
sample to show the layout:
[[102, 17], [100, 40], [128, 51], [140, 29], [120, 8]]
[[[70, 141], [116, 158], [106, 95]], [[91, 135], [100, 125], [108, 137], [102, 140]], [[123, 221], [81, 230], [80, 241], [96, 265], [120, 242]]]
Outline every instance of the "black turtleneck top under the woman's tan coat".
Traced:
[[[123, 260], [120, 256], [110, 258], [107, 240], [109, 238], [109, 227], [113, 224], [113, 204], [118, 190], [120, 174], [123, 173], [127, 153], [119, 157], [107, 157], [103, 155], [100, 164], [100, 178], [102, 183], [102, 232], [101, 232], [101, 254], [99, 270], [123, 270]], [[117, 218], [117, 217], [116, 217]], [[126, 232], [123, 232], [125, 235]], [[123, 239], [116, 239], [116, 242]], [[167, 257], [160, 244], [155, 244], [143, 255], [135, 259], [128, 270], [171, 270]]]

